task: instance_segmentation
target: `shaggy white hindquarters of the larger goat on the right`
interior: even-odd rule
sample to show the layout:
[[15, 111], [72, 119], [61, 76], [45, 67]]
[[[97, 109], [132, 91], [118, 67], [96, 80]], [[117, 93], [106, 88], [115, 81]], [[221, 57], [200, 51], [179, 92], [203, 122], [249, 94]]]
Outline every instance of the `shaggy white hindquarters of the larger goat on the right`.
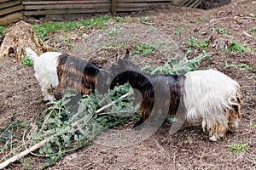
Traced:
[[[204, 131], [205, 127], [210, 131], [212, 141], [224, 137], [229, 128], [237, 128], [241, 104], [239, 84], [214, 70], [191, 71], [185, 76], [187, 120], [201, 121]], [[238, 111], [234, 110], [236, 106]], [[229, 116], [230, 120], [227, 119]]]

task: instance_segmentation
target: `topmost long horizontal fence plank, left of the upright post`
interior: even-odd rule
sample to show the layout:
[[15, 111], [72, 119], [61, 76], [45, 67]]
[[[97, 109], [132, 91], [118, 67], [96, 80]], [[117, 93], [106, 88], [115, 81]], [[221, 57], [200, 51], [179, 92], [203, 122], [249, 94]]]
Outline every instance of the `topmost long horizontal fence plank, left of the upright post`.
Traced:
[[24, 5], [47, 5], [47, 4], [90, 4], [90, 3], [111, 3], [111, 0], [96, 0], [96, 1], [23, 1]]

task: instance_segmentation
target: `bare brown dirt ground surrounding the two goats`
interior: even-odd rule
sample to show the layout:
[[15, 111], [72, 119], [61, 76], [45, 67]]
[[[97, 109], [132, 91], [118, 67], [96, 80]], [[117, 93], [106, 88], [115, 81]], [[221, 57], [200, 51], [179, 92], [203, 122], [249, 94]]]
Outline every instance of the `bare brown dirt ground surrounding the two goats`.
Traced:
[[[143, 20], [145, 16], [149, 16], [150, 20]], [[165, 6], [125, 15], [125, 22], [119, 25], [110, 20], [105, 29], [90, 31], [82, 36], [76, 31], [71, 32], [67, 37], [72, 37], [73, 50], [63, 47], [61, 52], [106, 68], [113, 62], [113, 54], [125, 52], [125, 48], [111, 46], [114, 42], [124, 43], [131, 49], [139, 42], [159, 42], [158, 50], [171, 47], [173, 53], [183, 56], [189, 37], [212, 37], [208, 48], [192, 48], [189, 57], [195, 57], [205, 50], [212, 57], [204, 59], [199, 69], [217, 69], [239, 82], [243, 96], [242, 116], [239, 129], [215, 143], [208, 140], [207, 133], [202, 132], [199, 124], [184, 124], [177, 133], [170, 135], [171, 124], [165, 123], [138, 144], [113, 148], [92, 143], [67, 154], [49, 169], [256, 169], [256, 127], [251, 126], [256, 123], [256, 72], [223, 68], [225, 62], [234, 62], [256, 69], [256, 54], [252, 51], [256, 48], [256, 31], [249, 31], [253, 26], [256, 26], [256, 1], [239, 0], [211, 10]], [[222, 27], [230, 34], [211, 31], [212, 27]], [[177, 31], [179, 28], [182, 33]], [[51, 38], [63, 37], [56, 32]], [[241, 42], [251, 50], [246, 53], [224, 53], [213, 47], [216, 43], [219, 45], [231, 40]], [[56, 47], [49, 40], [46, 42]], [[131, 57], [139, 67], [163, 65], [169, 58], [172, 58], [171, 52], [135, 54]], [[33, 68], [20, 66], [14, 60], [0, 60], [0, 127], [7, 125], [12, 118], [33, 122], [38, 113], [47, 108]], [[229, 145], [240, 142], [247, 144], [248, 150], [232, 152]], [[30, 166], [36, 168], [37, 161]], [[22, 168], [22, 165], [13, 164], [10, 168]]]

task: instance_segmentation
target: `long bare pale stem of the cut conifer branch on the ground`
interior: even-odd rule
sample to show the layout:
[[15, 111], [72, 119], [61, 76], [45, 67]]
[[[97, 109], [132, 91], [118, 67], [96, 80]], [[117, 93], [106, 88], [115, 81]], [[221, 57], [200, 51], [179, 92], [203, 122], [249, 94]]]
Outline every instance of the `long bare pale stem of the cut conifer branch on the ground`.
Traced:
[[[127, 97], [129, 94], [130, 94], [130, 93], [124, 94], [124, 95], [122, 95], [119, 99], [124, 99], [124, 98]], [[104, 105], [102, 108], [96, 110], [95, 113], [96, 113], [96, 114], [97, 114], [97, 113], [100, 113], [101, 111], [103, 111], [103, 110], [107, 109], [108, 107], [114, 105], [117, 101], [118, 101], [118, 100], [115, 100], [115, 101], [112, 101], [111, 103], [109, 103], [108, 105]], [[92, 116], [93, 116], [93, 114], [92, 114]], [[89, 119], [89, 120], [90, 120], [90, 119]], [[87, 121], [89, 121], [89, 120], [87, 120]], [[75, 126], [77, 126], [77, 125], [79, 124], [79, 122], [81, 122], [81, 121], [84, 121], [84, 120], [83, 120], [83, 119], [80, 119], [80, 120], [77, 121], [77, 122], [73, 122], [71, 126], [72, 126], [72, 127], [75, 127]], [[3, 161], [2, 163], [0, 163], [0, 169], [3, 169], [4, 167], [7, 167], [10, 163], [19, 160], [21, 157], [24, 157], [24, 156], [28, 155], [28, 154], [31, 153], [32, 151], [38, 150], [38, 148], [40, 148], [41, 146], [43, 146], [45, 143], [49, 142], [49, 141], [52, 140], [52, 139], [55, 139], [56, 136], [59, 136], [59, 135], [61, 135], [62, 133], [66, 133], [67, 130], [68, 130], [68, 127], [65, 128], [63, 131], [61, 131], [61, 132], [59, 132], [59, 133], [55, 133], [54, 135], [52, 135], [52, 136], [50, 136], [50, 137], [48, 137], [48, 138], [46, 138], [46, 139], [40, 141], [38, 144], [32, 145], [32, 147], [30, 147], [30, 148], [28, 148], [28, 149], [26, 149], [26, 150], [20, 152], [19, 154], [15, 155], [15, 156], [13, 156], [13, 157], [11, 157], [11, 158], [9, 158], [8, 160]]]

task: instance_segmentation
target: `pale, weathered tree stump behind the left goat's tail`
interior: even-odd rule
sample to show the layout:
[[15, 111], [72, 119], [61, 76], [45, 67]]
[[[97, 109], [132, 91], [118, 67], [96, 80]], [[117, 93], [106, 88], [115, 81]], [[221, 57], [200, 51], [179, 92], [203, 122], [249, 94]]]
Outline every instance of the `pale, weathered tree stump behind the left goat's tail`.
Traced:
[[3, 42], [0, 45], [0, 59], [12, 56], [20, 61], [27, 47], [32, 48], [37, 54], [50, 51], [50, 48], [37, 37], [32, 25], [24, 21], [9, 27], [4, 32]]

